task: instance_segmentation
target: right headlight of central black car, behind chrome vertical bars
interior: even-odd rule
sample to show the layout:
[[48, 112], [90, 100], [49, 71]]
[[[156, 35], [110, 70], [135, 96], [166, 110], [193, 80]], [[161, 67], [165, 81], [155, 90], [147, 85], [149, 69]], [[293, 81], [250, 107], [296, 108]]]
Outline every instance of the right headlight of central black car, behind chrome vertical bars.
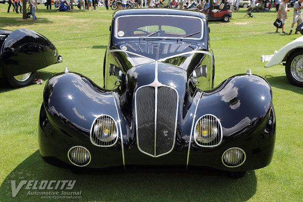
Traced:
[[222, 127], [213, 115], [204, 115], [195, 124], [195, 142], [199, 146], [217, 146], [222, 141]]

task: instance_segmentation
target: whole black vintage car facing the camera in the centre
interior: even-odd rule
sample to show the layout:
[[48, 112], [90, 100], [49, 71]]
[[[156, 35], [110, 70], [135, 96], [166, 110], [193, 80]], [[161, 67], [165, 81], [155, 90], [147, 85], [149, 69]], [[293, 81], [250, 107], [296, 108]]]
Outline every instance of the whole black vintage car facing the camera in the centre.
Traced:
[[270, 164], [275, 111], [268, 82], [247, 73], [213, 88], [205, 14], [118, 11], [104, 86], [67, 68], [45, 85], [39, 147], [49, 164], [206, 166], [241, 177]]

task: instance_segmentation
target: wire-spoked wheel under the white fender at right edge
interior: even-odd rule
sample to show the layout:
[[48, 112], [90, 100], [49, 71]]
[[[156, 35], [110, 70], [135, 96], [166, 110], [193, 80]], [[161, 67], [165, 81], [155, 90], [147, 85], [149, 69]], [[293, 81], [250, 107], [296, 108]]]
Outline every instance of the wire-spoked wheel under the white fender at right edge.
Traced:
[[294, 51], [288, 57], [285, 73], [292, 85], [303, 87], [303, 51]]

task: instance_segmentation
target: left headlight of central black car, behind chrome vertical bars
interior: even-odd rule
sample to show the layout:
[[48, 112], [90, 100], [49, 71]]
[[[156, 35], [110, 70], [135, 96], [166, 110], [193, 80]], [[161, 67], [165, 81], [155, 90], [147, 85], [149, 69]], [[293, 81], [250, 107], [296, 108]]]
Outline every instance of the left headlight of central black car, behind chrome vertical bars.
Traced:
[[107, 115], [102, 115], [95, 119], [90, 140], [98, 146], [112, 146], [117, 140], [118, 129], [114, 119]]

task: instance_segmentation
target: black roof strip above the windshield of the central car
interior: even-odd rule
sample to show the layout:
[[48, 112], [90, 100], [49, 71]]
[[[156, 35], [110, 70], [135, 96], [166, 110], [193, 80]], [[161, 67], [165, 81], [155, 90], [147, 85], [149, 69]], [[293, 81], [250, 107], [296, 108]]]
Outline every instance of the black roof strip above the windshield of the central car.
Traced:
[[125, 9], [116, 11], [113, 14], [113, 18], [125, 15], [183, 15], [183, 16], [195, 16], [206, 20], [204, 13], [192, 10], [182, 9], [166, 9], [166, 8], [148, 8], [148, 9]]

